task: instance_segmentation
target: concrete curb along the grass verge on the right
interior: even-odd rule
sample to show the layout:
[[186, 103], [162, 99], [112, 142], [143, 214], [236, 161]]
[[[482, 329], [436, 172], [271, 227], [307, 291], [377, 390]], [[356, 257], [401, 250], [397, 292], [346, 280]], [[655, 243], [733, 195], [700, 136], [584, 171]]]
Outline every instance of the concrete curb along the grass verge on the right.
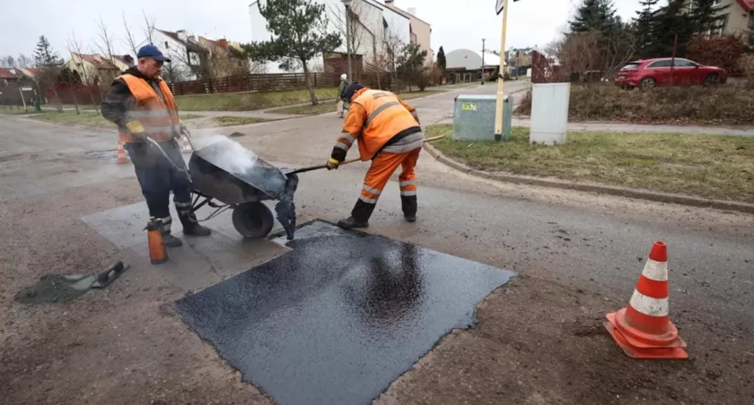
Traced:
[[471, 176], [488, 178], [491, 180], [497, 180], [505, 183], [513, 183], [517, 185], [539, 185], [542, 187], [559, 188], [563, 190], [577, 190], [588, 193], [609, 194], [618, 195], [620, 197], [630, 197], [639, 200], [648, 200], [655, 202], [668, 202], [679, 205], [689, 205], [693, 207], [701, 208], [714, 208], [717, 210], [728, 211], [740, 211], [746, 213], [754, 213], [754, 204], [746, 202], [732, 202], [724, 200], [712, 200], [706, 198], [692, 197], [683, 194], [670, 194], [659, 193], [649, 190], [639, 190], [627, 187], [618, 187], [615, 185], [599, 185], [593, 183], [576, 183], [566, 180], [557, 180], [540, 177], [530, 176], [517, 176], [504, 173], [490, 173], [487, 171], [477, 170], [475, 168], [469, 168], [469, 166], [463, 163], [457, 162], [443, 155], [443, 152], [438, 151], [434, 146], [425, 142], [425, 150], [437, 159], [441, 163], [451, 168], [455, 168], [463, 173], [467, 173]]

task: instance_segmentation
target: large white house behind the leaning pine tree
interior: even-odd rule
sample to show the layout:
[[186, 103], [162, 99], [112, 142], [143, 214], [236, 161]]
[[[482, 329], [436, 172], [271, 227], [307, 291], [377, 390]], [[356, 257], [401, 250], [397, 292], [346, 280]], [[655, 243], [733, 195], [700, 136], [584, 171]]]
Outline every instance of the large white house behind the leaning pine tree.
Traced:
[[[346, 73], [347, 49], [346, 49], [346, 6], [342, 0], [312, 0], [318, 4], [324, 4], [328, 13], [328, 31], [338, 32], [341, 35], [342, 45], [333, 49], [327, 55], [318, 56], [310, 61], [310, 67], [322, 66], [326, 73]], [[267, 41], [272, 34], [267, 30], [267, 20], [259, 13], [259, 4], [264, 5], [266, 0], [255, 0], [249, 4], [251, 22], [251, 40], [255, 42]], [[386, 2], [388, 3], [388, 2]], [[394, 50], [396, 44], [408, 44], [411, 41], [410, 14], [403, 12], [389, 4], [381, 4], [376, 0], [352, 0], [349, 5], [349, 23], [355, 25], [350, 30], [350, 42], [355, 73], [364, 70], [365, 65], [373, 64], [383, 54]], [[428, 24], [426, 24], [428, 27]], [[389, 44], [392, 43], [392, 46]], [[427, 41], [427, 48], [429, 42]], [[427, 59], [431, 55], [428, 54]], [[267, 73], [284, 73], [274, 62], [267, 62]], [[316, 68], [314, 69], [316, 70]], [[302, 72], [298, 67], [294, 72]]]

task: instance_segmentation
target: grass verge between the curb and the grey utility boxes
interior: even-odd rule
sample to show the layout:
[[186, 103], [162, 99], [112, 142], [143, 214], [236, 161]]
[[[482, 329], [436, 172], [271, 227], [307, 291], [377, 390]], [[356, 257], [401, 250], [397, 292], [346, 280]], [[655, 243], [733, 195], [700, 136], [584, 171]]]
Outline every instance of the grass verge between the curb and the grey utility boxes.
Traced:
[[569, 132], [552, 147], [531, 145], [521, 127], [506, 142], [452, 141], [452, 125], [430, 126], [426, 136], [440, 134], [438, 150], [481, 170], [754, 202], [754, 138]]

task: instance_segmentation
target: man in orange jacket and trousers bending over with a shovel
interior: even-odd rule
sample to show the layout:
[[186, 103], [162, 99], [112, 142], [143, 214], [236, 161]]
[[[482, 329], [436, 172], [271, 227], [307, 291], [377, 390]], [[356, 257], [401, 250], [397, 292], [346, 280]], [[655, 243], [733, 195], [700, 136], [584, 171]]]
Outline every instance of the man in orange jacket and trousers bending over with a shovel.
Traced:
[[408, 222], [416, 222], [416, 160], [424, 144], [416, 109], [390, 91], [372, 90], [359, 82], [346, 87], [344, 99], [350, 109], [327, 163], [329, 170], [346, 159], [351, 145], [358, 140], [359, 156], [372, 159], [364, 177], [361, 196], [351, 216], [338, 221], [341, 228], [367, 228], [382, 189], [400, 166], [400, 202]]

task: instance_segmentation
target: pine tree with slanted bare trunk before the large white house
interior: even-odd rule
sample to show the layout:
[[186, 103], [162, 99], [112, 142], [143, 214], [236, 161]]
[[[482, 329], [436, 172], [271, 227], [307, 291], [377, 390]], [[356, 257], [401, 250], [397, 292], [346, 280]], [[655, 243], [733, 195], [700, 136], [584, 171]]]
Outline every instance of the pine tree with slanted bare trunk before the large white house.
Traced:
[[311, 0], [267, 0], [259, 2], [259, 13], [267, 20], [267, 30], [273, 38], [243, 46], [253, 59], [280, 62], [280, 68], [290, 70], [301, 64], [311, 104], [319, 104], [311, 85], [309, 61], [317, 55], [331, 52], [342, 43], [336, 33], [327, 32], [328, 18], [325, 4]]

